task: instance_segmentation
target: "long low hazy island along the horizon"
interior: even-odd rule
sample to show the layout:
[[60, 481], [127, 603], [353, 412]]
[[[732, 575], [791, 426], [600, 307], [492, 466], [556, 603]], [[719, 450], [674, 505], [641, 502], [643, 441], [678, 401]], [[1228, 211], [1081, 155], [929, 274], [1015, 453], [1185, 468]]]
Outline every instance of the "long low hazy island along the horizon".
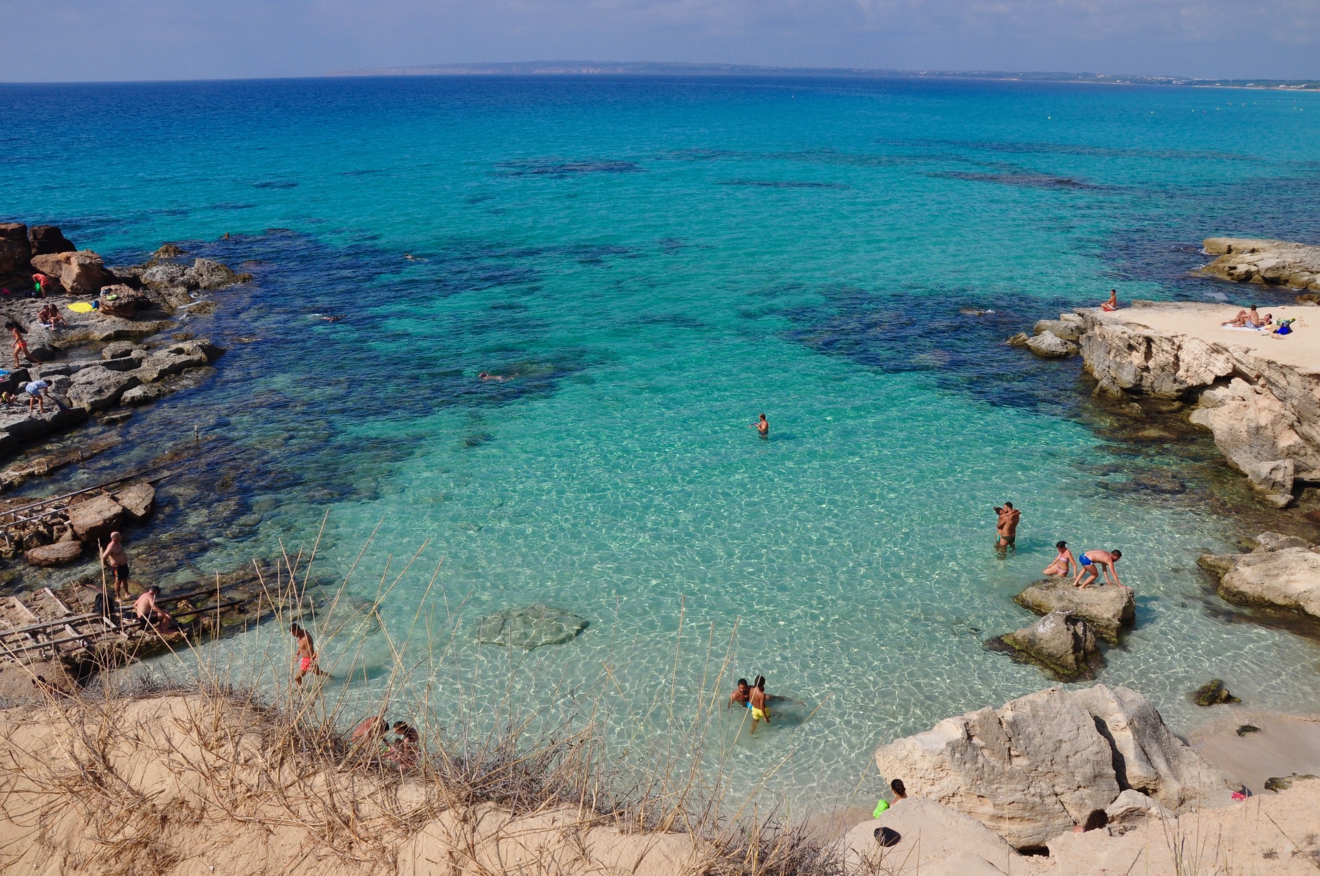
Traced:
[[1003, 79], [1088, 82], [1096, 84], [1286, 88], [1320, 91], [1315, 79], [1196, 79], [1123, 77], [1102, 73], [1003, 73], [994, 70], [865, 70], [859, 67], [760, 67], [739, 63], [651, 63], [632, 61], [525, 61], [513, 63], [437, 63], [418, 67], [333, 70], [330, 77], [924, 77], [931, 79]]

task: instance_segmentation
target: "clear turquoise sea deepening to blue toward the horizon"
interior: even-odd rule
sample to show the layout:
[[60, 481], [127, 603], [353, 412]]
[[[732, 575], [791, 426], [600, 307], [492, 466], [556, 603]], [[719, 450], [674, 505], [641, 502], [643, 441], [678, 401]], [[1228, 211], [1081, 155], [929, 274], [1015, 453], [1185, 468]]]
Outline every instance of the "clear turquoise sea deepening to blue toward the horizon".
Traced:
[[[310, 548], [325, 517], [330, 578], [375, 532], [350, 580], [370, 598], [426, 545], [381, 610], [391, 636], [354, 652], [355, 695], [412, 629], [409, 691], [438, 723], [590, 702], [620, 745], [664, 745], [727, 653], [721, 687], [764, 673], [818, 706], [715, 745], [733, 790], [870, 805], [876, 744], [1045, 686], [982, 641], [1031, 620], [1011, 598], [1063, 538], [1122, 548], [1137, 588], [1101, 681], [1184, 731], [1209, 677], [1320, 710], [1320, 644], [1236, 623], [1196, 570], [1245, 534], [1213, 513], [1239, 488], [1208, 442], [1125, 442], [1078, 363], [1001, 343], [1114, 286], [1262, 294], [1187, 272], [1205, 236], [1320, 239], [1315, 94], [0, 86], [0, 211], [112, 263], [170, 240], [255, 274], [195, 318], [230, 348], [216, 373], [127, 434], [144, 459], [194, 426], [231, 447], [214, 503], [247, 528], [170, 511], [206, 570]], [[1150, 471], [1188, 492], [1104, 485]], [[1023, 522], [999, 558], [1006, 499]], [[532, 603], [590, 627], [525, 656], [475, 642], [475, 619]], [[275, 631], [210, 656], [282, 677], [286, 648]]]

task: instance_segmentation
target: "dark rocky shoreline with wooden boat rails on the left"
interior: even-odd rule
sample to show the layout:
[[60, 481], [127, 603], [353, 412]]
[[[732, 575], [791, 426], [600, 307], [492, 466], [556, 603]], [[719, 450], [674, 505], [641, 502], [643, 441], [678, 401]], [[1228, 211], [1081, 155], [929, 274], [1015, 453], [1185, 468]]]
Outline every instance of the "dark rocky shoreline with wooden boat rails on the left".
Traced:
[[[135, 410], [205, 379], [224, 351], [189, 331], [189, 321], [216, 307], [211, 293], [249, 280], [251, 274], [234, 272], [211, 259], [189, 259], [176, 244], [162, 245], [144, 264], [107, 266], [98, 253], [78, 251], [58, 227], [0, 223], [0, 319], [22, 330], [29, 351], [26, 361], [0, 375], [0, 392], [15, 398], [0, 405], [0, 460], [11, 463], [0, 472], [0, 492], [40, 491], [41, 479], [57, 471], [78, 474], [87, 460], [102, 454], [110, 454], [104, 459], [132, 458], [135, 449], [116, 437], [116, 429]], [[40, 296], [33, 296], [34, 281], [40, 281]], [[55, 307], [58, 321], [42, 319], [41, 311], [48, 306]], [[29, 410], [26, 402], [24, 387], [34, 380], [48, 384], [44, 412]], [[83, 433], [88, 437], [83, 438]], [[55, 604], [71, 606], [75, 613], [92, 611], [99, 573], [42, 578], [36, 570], [73, 566], [95, 557], [111, 529], [123, 529], [131, 542], [136, 584], [180, 578], [186, 557], [205, 536], [190, 528], [162, 532], [160, 524], [152, 524], [160, 504], [157, 491], [164, 491], [165, 505], [174, 515], [201, 493], [207, 493], [209, 504], [216, 509], [232, 500], [214, 492], [215, 478], [210, 472], [198, 478], [220, 450], [216, 442], [202, 441], [197, 433], [178, 439], [176, 450], [152, 458], [144, 467], [133, 466], [129, 472], [115, 471], [99, 485], [86, 487], [86, 479], [74, 478], [66, 483], [78, 483], [79, 488], [67, 496], [0, 499], [0, 522], [5, 524], [0, 557], [8, 561], [0, 569], [0, 583], [13, 594], [8, 602], [18, 612], [5, 619], [9, 627], [0, 629], [22, 625], [24, 613], [33, 616], [18, 599], [22, 592], [15, 590], [16, 580], [26, 580], [29, 594], [48, 580]], [[114, 462], [111, 466], [124, 467]], [[135, 542], [139, 528], [153, 530], [149, 541]], [[190, 594], [170, 586], [164, 594], [172, 602], [183, 599], [176, 612], [194, 607], [185, 596], [197, 600], [206, 591], [205, 587], [198, 591], [197, 582], [186, 587], [190, 582], [180, 578], [180, 583]], [[231, 607], [220, 619], [207, 617], [202, 624], [207, 635], [242, 628], [269, 610], [255, 607], [260, 587], [251, 570], [222, 574], [211, 584], [226, 591], [226, 604], [246, 600], [247, 606]], [[78, 635], [84, 637], [75, 637], [71, 646], [38, 648], [61, 633], [28, 633], [18, 641], [25, 642], [24, 648], [38, 648], [38, 654], [46, 650], [58, 654], [58, 660], [51, 657], [44, 664], [45, 674], [67, 690], [107, 660], [117, 660], [88, 629], [79, 627]], [[173, 640], [166, 636], [156, 645], [166, 646], [170, 641], [177, 645], [177, 635]], [[13, 641], [8, 645], [13, 646]], [[141, 657], [152, 650], [152, 642], [135, 641], [132, 650], [132, 656]], [[0, 695], [30, 694], [30, 673], [12, 662], [5, 666], [0, 668]]]

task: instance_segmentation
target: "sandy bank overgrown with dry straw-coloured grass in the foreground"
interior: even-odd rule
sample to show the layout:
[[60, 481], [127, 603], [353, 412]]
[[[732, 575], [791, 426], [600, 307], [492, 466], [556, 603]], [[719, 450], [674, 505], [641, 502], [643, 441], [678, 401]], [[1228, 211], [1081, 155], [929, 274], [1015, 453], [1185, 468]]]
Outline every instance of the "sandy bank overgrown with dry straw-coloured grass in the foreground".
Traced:
[[[379, 615], [420, 555], [392, 578], [387, 562], [367, 602], [347, 596], [352, 570], [322, 600], [309, 599], [315, 549], [308, 557], [282, 554], [268, 569], [257, 566], [276, 629], [298, 617], [319, 631], [321, 653], [352, 656], [347, 665], [341, 660], [329, 666], [342, 679], [341, 694], [355, 677], [362, 650], [356, 639], [384, 636], [393, 660], [372, 708], [385, 714], [407, 706], [422, 715], [414, 723], [421, 744], [413, 761], [401, 766], [379, 747], [351, 744], [343, 728], [362, 716], [360, 699], [334, 697], [331, 682], [272, 687], [236, 678], [207, 652], [178, 654], [169, 681], [104, 666], [98, 685], [49, 703], [40, 718], [11, 711], [0, 731], [0, 748], [9, 752], [0, 760], [0, 789], [22, 803], [7, 806], [8, 822], [25, 831], [26, 847], [61, 855], [82, 872], [115, 876], [178, 872], [223, 858], [226, 848], [260, 843], [269, 856], [276, 838], [296, 850], [279, 872], [304, 872], [306, 861], [317, 861], [314, 872], [404, 872], [414, 851], [409, 843], [420, 832], [426, 843], [446, 848], [454, 872], [601, 872], [583, 863], [597, 854], [591, 843], [601, 836], [671, 846], [682, 838], [682, 872], [842, 872], [837, 836], [780, 819], [779, 806], [763, 814], [754, 801], [729, 799], [727, 756], [717, 759], [715, 774], [702, 766], [729, 672], [727, 654], [715, 656], [713, 635], [702, 685], [710, 693], [676, 710], [671, 691], [671, 718], [689, 715], [681, 722], [685, 734], [657, 747], [631, 748], [631, 756], [619, 757], [620, 747], [609, 739], [605, 698], [593, 691], [576, 691], [585, 704], [560, 716], [532, 710], [513, 718], [512, 707], [491, 716], [470, 708], [436, 726], [428, 691], [416, 683], [432, 668], [408, 662], [405, 654], [420, 650], [444, 660], [457, 635], [453, 612], [446, 611], [445, 623], [424, 616], [440, 567], [404, 640], [392, 637]], [[425, 636], [425, 648], [409, 648], [414, 629]], [[288, 648], [280, 636], [264, 641], [267, 648]], [[288, 654], [272, 653], [259, 665], [276, 660], [286, 665]], [[354, 702], [358, 711], [350, 716], [346, 710]], [[32, 744], [55, 751], [21, 763], [12, 755]], [[519, 835], [527, 825], [553, 830], [532, 842]], [[510, 864], [503, 843], [513, 835], [521, 851]], [[21, 858], [12, 846], [0, 850], [0, 869]]]

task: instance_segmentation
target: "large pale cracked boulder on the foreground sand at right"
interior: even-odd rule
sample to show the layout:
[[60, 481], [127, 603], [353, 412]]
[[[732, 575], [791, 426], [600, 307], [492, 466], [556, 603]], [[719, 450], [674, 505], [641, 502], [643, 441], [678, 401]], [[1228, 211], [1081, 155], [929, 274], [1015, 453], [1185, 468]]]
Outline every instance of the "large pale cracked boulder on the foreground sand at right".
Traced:
[[1228, 776], [1179, 740], [1150, 701], [1105, 685], [1049, 687], [945, 719], [880, 745], [875, 765], [1018, 850], [1044, 847], [1125, 792], [1172, 810], [1226, 803], [1232, 793]]

